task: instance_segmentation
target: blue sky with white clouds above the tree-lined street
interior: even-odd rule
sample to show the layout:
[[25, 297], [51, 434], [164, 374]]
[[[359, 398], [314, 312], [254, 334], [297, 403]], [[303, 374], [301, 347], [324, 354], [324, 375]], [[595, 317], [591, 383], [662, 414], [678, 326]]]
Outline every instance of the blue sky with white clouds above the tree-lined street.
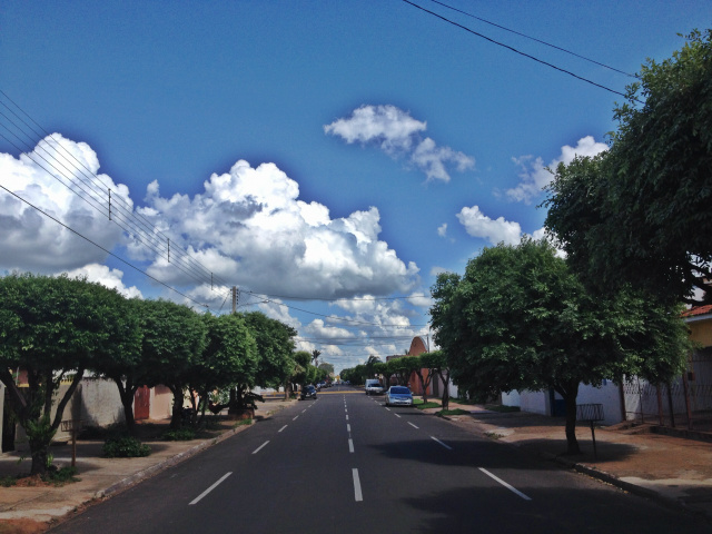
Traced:
[[[414, 3], [613, 91], [633, 81]], [[630, 73], [712, 14], [709, 1], [445, 3]], [[603, 150], [622, 101], [402, 0], [0, 0], [0, 271], [86, 274], [214, 313], [237, 285], [241, 310], [295, 326], [337, 370], [427, 335], [438, 271], [538, 236], [544, 167]], [[112, 189], [174, 261], [62, 174]]]

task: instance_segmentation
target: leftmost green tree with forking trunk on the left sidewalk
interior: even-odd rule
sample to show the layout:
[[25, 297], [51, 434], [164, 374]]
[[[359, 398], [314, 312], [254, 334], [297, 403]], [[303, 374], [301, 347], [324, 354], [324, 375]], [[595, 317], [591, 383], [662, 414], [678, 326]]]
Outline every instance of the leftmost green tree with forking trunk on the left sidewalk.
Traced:
[[[24, 428], [32, 474], [47, 469], [49, 446], [65, 407], [98, 358], [131, 353], [136, 316], [125, 314], [123, 297], [86, 279], [10, 275], [0, 278], [0, 379]], [[18, 387], [10, 369], [27, 374]], [[60, 383], [70, 385], [57, 403]]]

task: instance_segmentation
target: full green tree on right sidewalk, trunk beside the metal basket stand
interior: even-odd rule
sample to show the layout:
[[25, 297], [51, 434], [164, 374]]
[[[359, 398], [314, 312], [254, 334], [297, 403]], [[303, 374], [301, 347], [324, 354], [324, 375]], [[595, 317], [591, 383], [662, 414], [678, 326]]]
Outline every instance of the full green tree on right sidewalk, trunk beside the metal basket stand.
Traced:
[[690, 349], [679, 310], [631, 291], [587, 291], [546, 241], [485, 248], [462, 278], [438, 276], [433, 297], [435, 339], [455, 383], [475, 395], [554, 389], [566, 405], [571, 454], [580, 384], [668, 379]]

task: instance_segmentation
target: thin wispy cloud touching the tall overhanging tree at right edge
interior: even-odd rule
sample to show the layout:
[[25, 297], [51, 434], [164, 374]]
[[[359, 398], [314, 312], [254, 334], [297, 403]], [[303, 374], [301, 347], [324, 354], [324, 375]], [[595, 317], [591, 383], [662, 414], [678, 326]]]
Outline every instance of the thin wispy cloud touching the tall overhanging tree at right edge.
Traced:
[[568, 165], [576, 156], [596, 156], [607, 149], [606, 144], [596, 142], [593, 136], [586, 136], [578, 139], [575, 147], [563, 146], [558, 158], [553, 159], [547, 166], [544, 165], [542, 158], [533, 158], [532, 156], [513, 158], [514, 162], [522, 169], [520, 172], [521, 181], [516, 187], [507, 189], [506, 196], [511, 200], [531, 204], [554, 178], [554, 175], [548, 169], [556, 170], [558, 164], [562, 162]]

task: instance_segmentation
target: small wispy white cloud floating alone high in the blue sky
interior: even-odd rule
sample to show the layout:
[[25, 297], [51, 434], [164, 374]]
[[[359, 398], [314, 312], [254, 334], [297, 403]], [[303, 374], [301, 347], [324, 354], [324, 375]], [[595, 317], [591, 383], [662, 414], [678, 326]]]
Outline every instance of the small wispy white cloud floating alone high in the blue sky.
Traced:
[[395, 106], [362, 106], [350, 117], [324, 126], [324, 131], [338, 136], [347, 144], [378, 146], [387, 155], [408, 161], [425, 172], [427, 180], [449, 181], [448, 166], [465, 171], [475, 160], [449, 147], [438, 147], [429, 137], [422, 138], [426, 123]]

